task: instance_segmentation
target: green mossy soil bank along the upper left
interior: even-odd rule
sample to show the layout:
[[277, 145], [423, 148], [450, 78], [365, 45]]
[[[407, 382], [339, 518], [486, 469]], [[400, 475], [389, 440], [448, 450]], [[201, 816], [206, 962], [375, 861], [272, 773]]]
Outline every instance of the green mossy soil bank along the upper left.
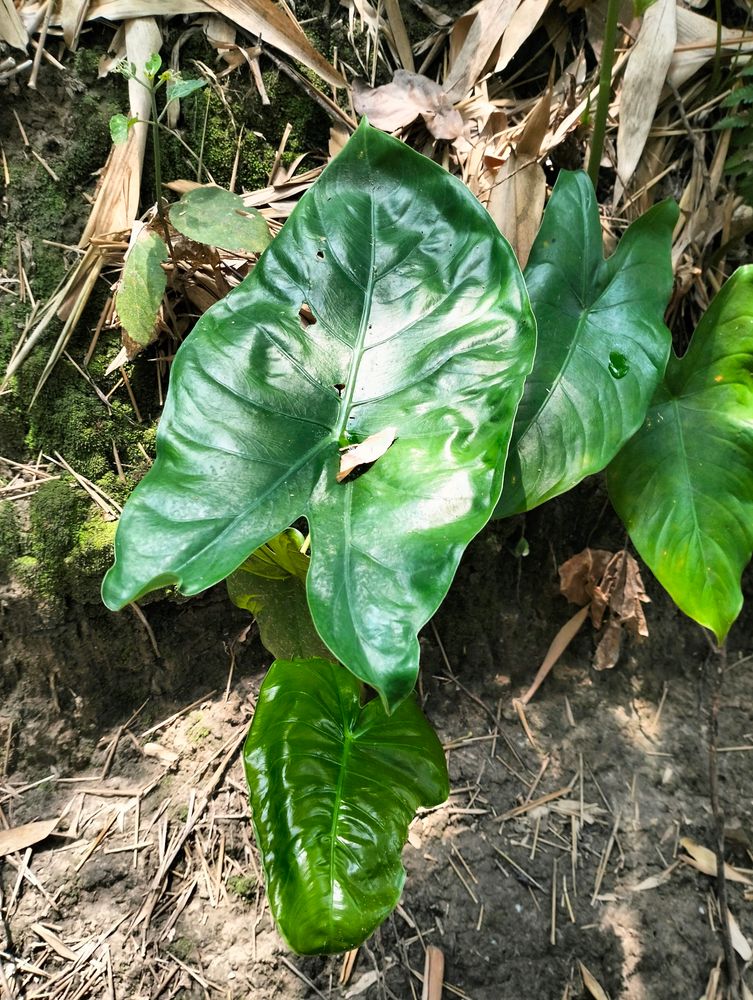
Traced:
[[[316, 12], [315, 12], [316, 13]], [[328, 39], [312, 22], [314, 44], [327, 51]], [[325, 32], [326, 34], [326, 32]], [[65, 88], [54, 70], [43, 67], [38, 95], [21, 94], [14, 107], [26, 127], [31, 147], [40, 152], [58, 177], [54, 180], [21, 143], [5, 146], [11, 175], [6, 192], [7, 216], [0, 240], [0, 268], [17, 273], [19, 234], [24, 266], [34, 296], [44, 301], [75, 263], [76, 252], [50, 246], [44, 241], [75, 246], [89, 212], [94, 174], [104, 164], [110, 148], [108, 130], [112, 114], [123, 111], [125, 81], [113, 75], [97, 78], [97, 64], [109, 37], [102, 35], [89, 48], [71, 57]], [[166, 49], [171, 44], [166, 39]], [[192, 36], [182, 49], [181, 69], [196, 75], [193, 60], [212, 66], [213, 50], [203, 35]], [[220, 185], [227, 186], [237, 157], [235, 190], [265, 187], [288, 122], [293, 126], [284, 163], [304, 152], [326, 149], [329, 122], [326, 115], [269, 61], [262, 60], [269, 106], [261, 102], [248, 73], [233, 74], [223, 84], [222, 97], [205, 88], [182, 104], [178, 131], [187, 145], [201, 156], [207, 170]], [[10, 110], [0, 111], [2, 123]], [[15, 123], [8, 122], [9, 134]], [[240, 147], [240, 148], [239, 148]], [[147, 148], [142, 204], [155, 198], [153, 156]], [[196, 161], [177, 140], [164, 135], [162, 142], [164, 180], [194, 179]], [[206, 175], [202, 175], [206, 180]], [[108, 294], [103, 278], [68, 345], [68, 352], [81, 365]], [[6, 296], [0, 312], [0, 370], [18, 341], [26, 321], [28, 303]], [[156, 421], [160, 411], [156, 366], [146, 352], [129, 369], [129, 378], [142, 420], [121, 387], [105, 404], [92, 386], [65, 358], [61, 359], [34, 405], [34, 390], [49, 351], [60, 329], [52, 324], [33, 352], [10, 391], [0, 395], [0, 455], [24, 460], [40, 452], [59, 453], [78, 473], [97, 484], [104, 493], [123, 503], [145, 474], [153, 455]], [[88, 365], [87, 374], [107, 394], [118, 374], [106, 376], [106, 368], [120, 347], [119, 334], [103, 333]], [[123, 475], [115, 462], [115, 452]], [[112, 559], [113, 524], [103, 520], [81, 487], [70, 477], [43, 486], [30, 503], [30, 528], [19, 533], [11, 517], [0, 508], [0, 570], [10, 570], [47, 600], [68, 597], [98, 599], [102, 574]], [[24, 519], [26, 520], [26, 519]], [[14, 534], [15, 532], [15, 534]], [[18, 538], [16, 538], [18, 535]], [[6, 537], [7, 536], [7, 537]], [[11, 540], [12, 536], [12, 540]]]

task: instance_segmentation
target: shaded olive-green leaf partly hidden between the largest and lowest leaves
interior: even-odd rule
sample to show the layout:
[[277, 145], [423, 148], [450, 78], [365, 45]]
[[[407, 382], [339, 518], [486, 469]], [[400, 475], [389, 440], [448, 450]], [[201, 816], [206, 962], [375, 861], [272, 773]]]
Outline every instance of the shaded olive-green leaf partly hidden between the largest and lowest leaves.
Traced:
[[250, 611], [264, 646], [278, 660], [332, 659], [314, 628], [306, 600], [309, 557], [295, 528], [262, 545], [225, 581], [233, 604]]

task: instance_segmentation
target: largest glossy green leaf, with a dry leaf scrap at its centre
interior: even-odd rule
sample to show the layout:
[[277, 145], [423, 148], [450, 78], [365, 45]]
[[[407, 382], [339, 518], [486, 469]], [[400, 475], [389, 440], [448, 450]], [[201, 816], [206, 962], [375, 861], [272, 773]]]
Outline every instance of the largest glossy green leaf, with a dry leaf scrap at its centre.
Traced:
[[[499, 497], [534, 347], [484, 209], [362, 124], [178, 351], [105, 603], [196, 594], [304, 515], [316, 628], [394, 707], [415, 683], [417, 631]], [[386, 454], [338, 483], [340, 447], [387, 428]]]

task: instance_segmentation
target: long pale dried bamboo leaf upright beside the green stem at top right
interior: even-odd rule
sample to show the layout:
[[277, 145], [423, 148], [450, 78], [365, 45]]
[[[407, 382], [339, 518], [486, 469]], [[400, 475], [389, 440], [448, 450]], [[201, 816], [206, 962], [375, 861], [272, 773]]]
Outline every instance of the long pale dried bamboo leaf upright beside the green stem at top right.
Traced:
[[630, 51], [617, 129], [617, 175], [623, 187], [638, 166], [667, 78], [677, 40], [676, 12], [676, 0], [656, 0], [643, 15]]

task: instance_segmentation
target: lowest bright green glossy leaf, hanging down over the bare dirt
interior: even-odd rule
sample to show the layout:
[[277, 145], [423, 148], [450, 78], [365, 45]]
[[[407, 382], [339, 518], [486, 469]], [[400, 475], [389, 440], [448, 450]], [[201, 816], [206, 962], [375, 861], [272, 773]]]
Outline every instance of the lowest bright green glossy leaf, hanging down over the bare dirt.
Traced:
[[244, 760], [267, 896], [297, 952], [355, 948], [395, 907], [419, 806], [449, 794], [441, 744], [409, 698], [363, 707], [358, 681], [325, 660], [277, 661]]

